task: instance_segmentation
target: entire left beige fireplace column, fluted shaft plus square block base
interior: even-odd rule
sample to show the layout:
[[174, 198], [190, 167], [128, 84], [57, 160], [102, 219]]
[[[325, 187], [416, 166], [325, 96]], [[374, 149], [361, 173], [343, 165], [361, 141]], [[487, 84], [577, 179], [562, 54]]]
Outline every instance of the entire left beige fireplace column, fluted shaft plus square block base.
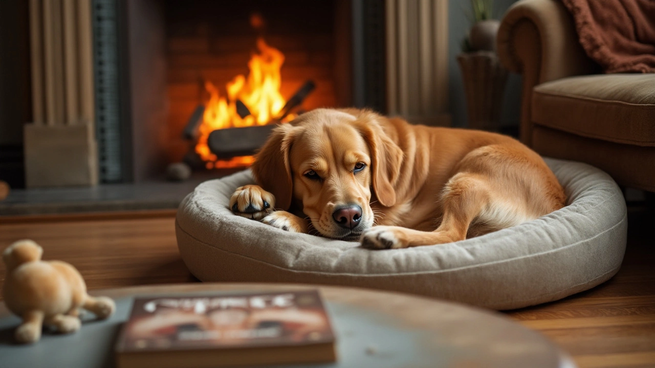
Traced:
[[26, 185], [95, 185], [90, 0], [30, 0], [33, 122]]

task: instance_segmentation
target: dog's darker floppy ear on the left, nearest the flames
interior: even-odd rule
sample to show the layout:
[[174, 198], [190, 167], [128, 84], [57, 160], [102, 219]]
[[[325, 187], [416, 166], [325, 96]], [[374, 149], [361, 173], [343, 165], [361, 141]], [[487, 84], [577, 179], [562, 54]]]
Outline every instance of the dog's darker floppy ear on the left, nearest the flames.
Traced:
[[289, 163], [293, 130], [291, 124], [276, 127], [255, 156], [251, 168], [257, 184], [275, 196], [275, 207], [285, 211], [291, 206], [293, 194]]

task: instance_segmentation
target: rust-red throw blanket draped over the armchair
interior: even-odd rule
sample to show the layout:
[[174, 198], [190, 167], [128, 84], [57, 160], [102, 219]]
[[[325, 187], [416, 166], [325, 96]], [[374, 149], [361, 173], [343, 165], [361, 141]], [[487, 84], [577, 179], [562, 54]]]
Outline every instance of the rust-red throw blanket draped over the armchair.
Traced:
[[655, 0], [563, 0], [605, 73], [655, 73]]

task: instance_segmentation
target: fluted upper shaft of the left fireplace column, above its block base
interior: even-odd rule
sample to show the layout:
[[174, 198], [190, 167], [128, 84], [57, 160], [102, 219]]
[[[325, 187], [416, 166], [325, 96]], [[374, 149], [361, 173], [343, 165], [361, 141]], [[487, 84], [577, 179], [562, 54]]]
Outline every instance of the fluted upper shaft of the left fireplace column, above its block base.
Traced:
[[35, 124], [92, 124], [90, 0], [30, 0], [29, 12]]

